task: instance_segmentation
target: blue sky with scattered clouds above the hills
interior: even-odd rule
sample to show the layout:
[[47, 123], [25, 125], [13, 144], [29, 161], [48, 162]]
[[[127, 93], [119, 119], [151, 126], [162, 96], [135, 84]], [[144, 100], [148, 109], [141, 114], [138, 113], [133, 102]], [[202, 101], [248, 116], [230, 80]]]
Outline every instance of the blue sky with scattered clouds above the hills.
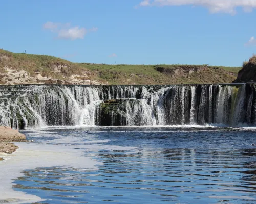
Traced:
[[8, 0], [0, 48], [73, 62], [241, 66], [255, 52], [254, 8], [256, 0]]

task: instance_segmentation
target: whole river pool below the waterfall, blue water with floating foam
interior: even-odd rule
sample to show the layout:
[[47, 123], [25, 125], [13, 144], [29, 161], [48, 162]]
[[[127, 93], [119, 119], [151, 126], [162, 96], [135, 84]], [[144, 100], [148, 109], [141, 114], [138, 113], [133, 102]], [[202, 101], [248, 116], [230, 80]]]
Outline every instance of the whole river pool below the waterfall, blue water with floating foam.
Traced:
[[[40, 198], [36, 203], [255, 203], [255, 130], [200, 126], [27, 129], [22, 132], [32, 142], [18, 143], [16, 154], [16, 158], [23, 155], [19, 162], [25, 169], [12, 175], [14, 191], [9, 197], [26, 193]], [[55, 150], [52, 156], [31, 157], [46, 146]], [[61, 157], [54, 158], [63, 149]], [[8, 161], [12, 164], [12, 158]], [[33, 164], [26, 166], [29, 161]], [[0, 168], [5, 165], [0, 163]], [[26, 196], [22, 200], [26, 202]]]

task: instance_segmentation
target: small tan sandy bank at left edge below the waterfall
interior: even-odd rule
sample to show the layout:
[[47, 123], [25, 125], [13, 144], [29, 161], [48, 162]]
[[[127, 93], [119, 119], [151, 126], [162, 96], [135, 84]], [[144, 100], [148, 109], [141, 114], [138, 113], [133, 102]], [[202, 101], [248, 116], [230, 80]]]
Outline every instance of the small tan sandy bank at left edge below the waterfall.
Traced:
[[[19, 133], [18, 130], [11, 129], [11, 127], [0, 126], [0, 153], [11, 154], [18, 146], [10, 142], [24, 142], [26, 137], [24, 134]], [[0, 158], [0, 161], [3, 160]]]

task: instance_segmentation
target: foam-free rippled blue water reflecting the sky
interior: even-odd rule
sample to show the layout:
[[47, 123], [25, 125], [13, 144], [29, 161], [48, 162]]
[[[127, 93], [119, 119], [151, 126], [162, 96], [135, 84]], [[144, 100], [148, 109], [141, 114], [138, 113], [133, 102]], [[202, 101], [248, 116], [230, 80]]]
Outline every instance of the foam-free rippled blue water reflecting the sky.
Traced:
[[[235, 131], [225, 131], [135, 131], [120, 140], [116, 132], [91, 131], [97, 140], [110, 140], [106, 145], [138, 149], [90, 150], [87, 154], [103, 163], [96, 172], [60, 167], [28, 170], [15, 181], [15, 189], [48, 199], [43, 203], [254, 203], [256, 148], [248, 144], [255, 133], [235, 137]], [[90, 140], [87, 132], [79, 135], [73, 130], [84, 141]]]

